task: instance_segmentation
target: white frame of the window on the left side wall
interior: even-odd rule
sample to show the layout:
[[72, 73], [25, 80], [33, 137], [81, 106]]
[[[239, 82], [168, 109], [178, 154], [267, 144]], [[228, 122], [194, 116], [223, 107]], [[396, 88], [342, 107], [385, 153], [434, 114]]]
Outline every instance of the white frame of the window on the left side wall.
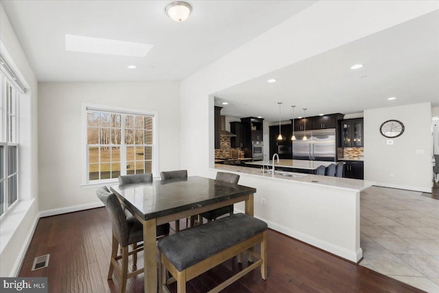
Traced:
[[[13, 78], [5, 71], [0, 71], [0, 83], [1, 83], [1, 97], [0, 97], [0, 145], [3, 147], [3, 177], [0, 178], [0, 183], [3, 183], [3, 213], [0, 215], [0, 219], [3, 218], [8, 212], [14, 208], [14, 206], [20, 200], [20, 146], [19, 146], [19, 98], [20, 93], [19, 88], [16, 86]], [[12, 89], [11, 100], [8, 101], [7, 91], [8, 89]], [[12, 103], [12, 111], [9, 110], [10, 104]], [[12, 117], [12, 119], [11, 119]], [[12, 130], [10, 133], [8, 130], [10, 129], [10, 123], [13, 124]], [[16, 172], [13, 174], [8, 174], [8, 161], [9, 161], [9, 152], [8, 147], [15, 146], [16, 147]], [[10, 180], [12, 176], [16, 176], [16, 199], [14, 202], [9, 202], [8, 190]]]

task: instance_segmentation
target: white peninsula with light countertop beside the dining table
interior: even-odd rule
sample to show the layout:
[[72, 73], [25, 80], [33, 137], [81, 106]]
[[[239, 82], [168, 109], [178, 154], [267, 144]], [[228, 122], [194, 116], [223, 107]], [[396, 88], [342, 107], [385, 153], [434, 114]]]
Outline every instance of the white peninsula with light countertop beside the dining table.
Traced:
[[[239, 174], [239, 185], [256, 188], [254, 216], [273, 230], [350, 261], [361, 259], [359, 195], [373, 182], [218, 164], [211, 171], [213, 177]], [[235, 210], [244, 211], [244, 204]]]

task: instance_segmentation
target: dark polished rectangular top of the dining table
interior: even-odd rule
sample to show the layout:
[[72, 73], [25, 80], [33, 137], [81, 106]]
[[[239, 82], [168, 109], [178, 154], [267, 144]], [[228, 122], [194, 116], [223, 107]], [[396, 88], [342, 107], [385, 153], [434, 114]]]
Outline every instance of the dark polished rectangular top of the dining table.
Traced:
[[115, 186], [111, 187], [111, 190], [128, 209], [137, 213], [143, 220], [160, 218], [256, 192], [252, 187], [199, 176], [154, 180], [152, 183], [125, 187]]

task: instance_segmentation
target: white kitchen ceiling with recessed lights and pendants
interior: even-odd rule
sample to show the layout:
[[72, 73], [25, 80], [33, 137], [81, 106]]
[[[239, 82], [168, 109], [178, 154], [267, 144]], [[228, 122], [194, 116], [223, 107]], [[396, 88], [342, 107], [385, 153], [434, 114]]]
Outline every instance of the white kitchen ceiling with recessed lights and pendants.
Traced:
[[[357, 70], [351, 65], [364, 64]], [[269, 84], [270, 78], [277, 82]], [[439, 11], [215, 93], [222, 115], [281, 119], [431, 102], [439, 106]], [[396, 97], [388, 101], [388, 97]]]

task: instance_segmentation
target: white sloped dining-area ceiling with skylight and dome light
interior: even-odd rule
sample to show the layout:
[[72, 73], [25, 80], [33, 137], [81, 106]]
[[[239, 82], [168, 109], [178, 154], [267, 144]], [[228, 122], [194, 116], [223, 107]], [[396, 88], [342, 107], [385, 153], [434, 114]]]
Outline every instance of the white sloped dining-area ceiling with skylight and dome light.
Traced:
[[[38, 81], [182, 80], [316, 1], [1, 1]], [[145, 58], [65, 50], [65, 34], [152, 44]], [[136, 65], [137, 69], [127, 69]]]

